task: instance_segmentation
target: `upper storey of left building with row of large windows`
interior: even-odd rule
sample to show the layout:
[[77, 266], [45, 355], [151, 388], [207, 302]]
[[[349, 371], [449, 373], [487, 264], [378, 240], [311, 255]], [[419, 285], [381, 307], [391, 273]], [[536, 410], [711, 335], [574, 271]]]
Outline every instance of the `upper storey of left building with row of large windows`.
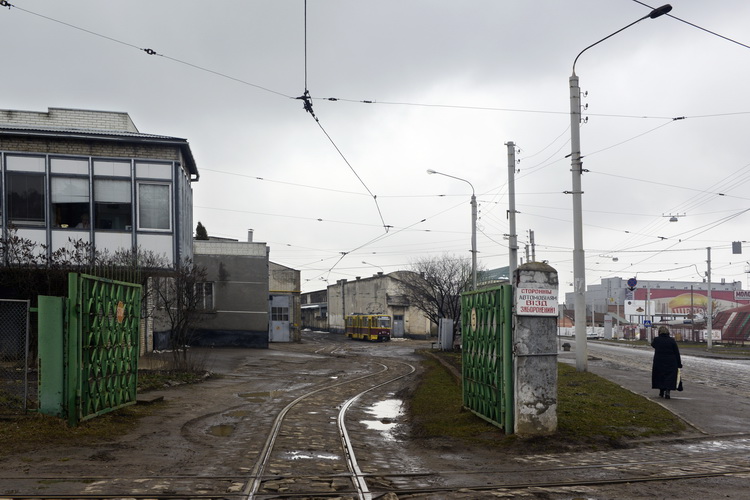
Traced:
[[185, 139], [143, 134], [127, 113], [0, 110], [0, 223], [52, 254], [71, 240], [192, 257]]

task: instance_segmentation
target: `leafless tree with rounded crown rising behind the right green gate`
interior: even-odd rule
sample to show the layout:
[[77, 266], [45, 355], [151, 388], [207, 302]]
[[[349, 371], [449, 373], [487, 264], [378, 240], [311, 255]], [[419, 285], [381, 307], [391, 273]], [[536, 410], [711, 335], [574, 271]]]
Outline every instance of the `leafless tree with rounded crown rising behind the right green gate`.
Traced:
[[424, 257], [410, 265], [410, 271], [392, 273], [409, 298], [409, 303], [435, 324], [453, 319], [457, 332], [461, 318], [461, 292], [471, 287], [471, 260], [445, 254]]

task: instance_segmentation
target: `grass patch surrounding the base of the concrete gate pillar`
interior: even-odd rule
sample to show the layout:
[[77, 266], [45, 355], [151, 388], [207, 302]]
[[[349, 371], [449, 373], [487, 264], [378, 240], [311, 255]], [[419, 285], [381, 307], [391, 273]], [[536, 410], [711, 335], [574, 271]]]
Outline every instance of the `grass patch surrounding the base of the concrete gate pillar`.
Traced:
[[[446, 361], [460, 367], [460, 355], [447, 353]], [[424, 368], [409, 405], [417, 438], [457, 438], [523, 453], [619, 448], [629, 440], [674, 435], [686, 429], [679, 418], [658, 404], [590, 372], [559, 363], [557, 432], [537, 438], [506, 435], [462, 408], [461, 387], [440, 363], [428, 359]]]

